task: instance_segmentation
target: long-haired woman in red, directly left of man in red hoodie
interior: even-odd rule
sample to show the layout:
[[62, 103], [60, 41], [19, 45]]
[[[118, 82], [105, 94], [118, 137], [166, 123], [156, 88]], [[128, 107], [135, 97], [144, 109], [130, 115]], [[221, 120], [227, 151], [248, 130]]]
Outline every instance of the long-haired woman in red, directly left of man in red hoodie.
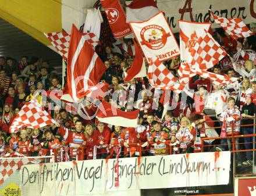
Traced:
[[93, 156], [94, 156], [93, 147], [95, 145], [95, 142], [97, 141], [97, 138], [95, 138], [94, 136], [94, 128], [91, 124], [87, 124], [86, 131], [84, 131], [84, 134], [86, 134], [87, 160], [90, 160], [90, 159], [93, 159]]

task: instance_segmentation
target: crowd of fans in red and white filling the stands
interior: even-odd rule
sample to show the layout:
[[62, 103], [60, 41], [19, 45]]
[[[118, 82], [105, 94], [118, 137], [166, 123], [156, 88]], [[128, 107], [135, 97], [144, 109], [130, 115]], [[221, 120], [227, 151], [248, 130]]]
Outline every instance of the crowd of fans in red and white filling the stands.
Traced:
[[[256, 23], [252, 23], [250, 28], [256, 33]], [[20, 62], [17, 62], [13, 58], [1, 56], [0, 151], [2, 155], [13, 151], [26, 156], [47, 155], [51, 150], [55, 149], [58, 153], [59, 148], [69, 147], [69, 151], [65, 151], [69, 159], [84, 160], [115, 157], [119, 154], [115, 147], [122, 148], [120, 156], [125, 157], [167, 155], [170, 154], [170, 146], [173, 147], [171, 148], [173, 154], [180, 154], [200, 152], [201, 144], [196, 141], [199, 137], [253, 134], [254, 120], [250, 118], [255, 114], [256, 37], [252, 35], [248, 38], [232, 40], [221, 29], [215, 30], [214, 37], [233, 58], [225, 56], [211, 71], [240, 77], [239, 84], [217, 86], [207, 79], [195, 76], [190, 79], [181, 94], [170, 92], [168, 102], [175, 103], [175, 107], [167, 111], [164, 107], [166, 100], [163, 101], [166, 94], [161, 95], [160, 99], [155, 99], [154, 94], [158, 91], [151, 88], [147, 77], [132, 79], [129, 82], [123, 81], [125, 71], [129, 69], [134, 59], [131, 40], [123, 40], [122, 55], [112, 52], [111, 47], [105, 47], [105, 51], [99, 54], [107, 67], [102, 81], [108, 83], [108, 88], [111, 90], [103, 99], [123, 111], [140, 109], [136, 128], [112, 126], [99, 122], [95, 117], [89, 120], [83, 119], [77, 111], [67, 108], [65, 102], [58, 105], [51, 98], [47, 98], [44, 109], [51, 114], [56, 124], [41, 129], [23, 127], [17, 133], [9, 133], [13, 118], [26, 102], [35, 97], [36, 90], [61, 90], [62, 85], [54, 67], [49, 66], [47, 60], [34, 57], [29, 62], [27, 56], [22, 56]], [[179, 56], [166, 61], [165, 66], [178, 77]], [[140, 102], [137, 104], [139, 106], [128, 105], [127, 98], [123, 99], [122, 96], [113, 100], [112, 94], [116, 90], [133, 92], [133, 101]], [[139, 96], [141, 91], [143, 92]], [[152, 92], [151, 95], [147, 91]], [[219, 95], [221, 99], [218, 104], [222, 102], [223, 105], [215, 109], [214, 115], [210, 115], [205, 110], [209, 98]], [[183, 99], [184, 96], [186, 99]], [[93, 102], [88, 100], [86, 102], [83, 112], [93, 116], [98, 108]], [[52, 109], [49, 107], [50, 104]], [[239, 127], [240, 124], [248, 126]], [[222, 127], [222, 129], [214, 127]], [[253, 137], [245, 137], [246, 144], [241, 145], [238, 144], [241, 143], [239, 138], [236, 138], [236, 149], [251, 149], [252, 141]], [[232, 150], [230, 139], [204, 142], [205, 145], [220, 144], [218, 147], [205, 147], [204, 151]], [[138, 145], [134, 145], [137, 143], [142, 144], [142, 151]], [[251, 165], [252, 152], [237, 156], [237, 160], [240, 164]]]

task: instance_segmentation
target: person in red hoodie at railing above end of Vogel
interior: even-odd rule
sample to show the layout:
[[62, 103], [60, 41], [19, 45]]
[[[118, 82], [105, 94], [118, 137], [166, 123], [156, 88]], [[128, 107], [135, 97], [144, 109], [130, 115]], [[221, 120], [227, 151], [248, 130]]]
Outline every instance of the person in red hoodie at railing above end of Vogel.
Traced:
[[99, 159], [105, 159], [109, 154], [108, 144], [111, 137], [111, 130], [106, 124], [99, 122], [94, 135], [97, 144], [97, 156]]

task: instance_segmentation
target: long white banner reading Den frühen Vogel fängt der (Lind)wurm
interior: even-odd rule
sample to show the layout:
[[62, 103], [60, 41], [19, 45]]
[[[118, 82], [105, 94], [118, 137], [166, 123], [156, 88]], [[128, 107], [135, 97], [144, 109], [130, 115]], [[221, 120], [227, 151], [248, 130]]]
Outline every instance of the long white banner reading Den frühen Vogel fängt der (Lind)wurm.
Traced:
[[119, 159], [118, 187], [115, 161], [61, 162], [55, 164], [55, 171], [49, 168], [49, 163], [25, 165], [20, 170], [20, 186], [28, 193], [37, 187], [44, 195], [52, 195], [54, 190], [56, 195], [84, 195], [229, 183], [229, 151]]

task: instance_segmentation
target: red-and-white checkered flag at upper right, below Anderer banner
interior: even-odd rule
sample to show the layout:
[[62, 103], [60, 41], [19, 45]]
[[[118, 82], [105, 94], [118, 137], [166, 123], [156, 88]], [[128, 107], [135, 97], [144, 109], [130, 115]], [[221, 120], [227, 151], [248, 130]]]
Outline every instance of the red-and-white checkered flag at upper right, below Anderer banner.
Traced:
[[240, 18], [226, 19], [225, 17], [216, 16], [212, 10], [211, 15], [214, 17], [215, 23], [219, 24], [233, 40], [254, 35]]

